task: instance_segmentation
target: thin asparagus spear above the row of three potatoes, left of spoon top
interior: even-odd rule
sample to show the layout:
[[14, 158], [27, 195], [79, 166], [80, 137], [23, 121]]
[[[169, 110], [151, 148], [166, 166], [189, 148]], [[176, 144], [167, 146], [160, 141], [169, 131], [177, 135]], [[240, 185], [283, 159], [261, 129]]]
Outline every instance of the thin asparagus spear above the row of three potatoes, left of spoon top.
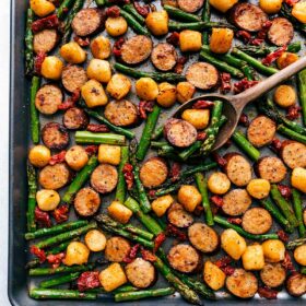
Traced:
[[134, 68], [127, 67], [122, 63], [116, 62], [114, 64], [114, 68], [125, 74], [128, 74], [130, 76], [133, 76], [136, 79], [138, 78], [152, 78], [156, 82], [180, 82], [185, 81], [185, 75], [178, 74], [178, 73], [172, 73], [172, 72], [148, 72], [148, 71], [141, 71], [137, 70]]

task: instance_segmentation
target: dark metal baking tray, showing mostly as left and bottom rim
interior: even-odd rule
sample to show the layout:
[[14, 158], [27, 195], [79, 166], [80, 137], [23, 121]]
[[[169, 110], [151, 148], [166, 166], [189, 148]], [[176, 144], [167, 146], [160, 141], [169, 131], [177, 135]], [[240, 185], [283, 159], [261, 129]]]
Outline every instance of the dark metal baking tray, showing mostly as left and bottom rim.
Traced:
[[[25, 12], [28, 5], [26, 0], [11, 1], [11, 78], [10, 78], [10, 190], [9, 190], [9, 282], [8, 294], [12, 305], [15, 306], [47, 306], [47, 305], [113, 305], [113, 298], [103, 297], [95, 302], [80, 301], [34, 301], [28, 297], [28, 287], [35, 285], [30, 281], [24, 269], [27, 261], [27, 243], [24, 239], [25, 213], [27, 202], [27, 186], [25, 163], [30, 144], [30, 82], [24, 78], [24, 30]], [[146, 66], [146, 64], [145, 64]], [[142, 69], [146, 69], [146, 67]], [[249, 114], [254, 114], [252, 107]], [[165, 117], [165, 116], [163, 116]], [[232, 148], [233, 150], [233, 148]], [[160, 278], [160, 281], [162, 278]], [[305, 305], [305, 297], [294, 299], [284, 292], [279, 294], [280, 299], [259, 299], [258, 296], [250, 301], [232, 298], [221, 293], [217, 302], [204, 302], [205, 305]], [[1, 304], [1, 302], [0, 302]], [[144, 299], [125, 305], [187, 305], [178, 294], [158, 299]], [[2, 304], [1, 304], [2, 305]], [[118, 304], [117, 304], [118, 305]]]

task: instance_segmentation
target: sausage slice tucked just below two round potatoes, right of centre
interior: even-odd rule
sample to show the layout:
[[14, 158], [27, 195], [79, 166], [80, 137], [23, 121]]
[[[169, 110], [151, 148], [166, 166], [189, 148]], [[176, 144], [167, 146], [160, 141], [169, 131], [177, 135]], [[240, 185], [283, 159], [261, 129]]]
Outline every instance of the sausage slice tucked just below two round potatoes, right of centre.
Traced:
[[251, 204], [251, 198], [245, 189], [233, 189], [223, 197], [222, 210], [228, 215], [240, 215]]

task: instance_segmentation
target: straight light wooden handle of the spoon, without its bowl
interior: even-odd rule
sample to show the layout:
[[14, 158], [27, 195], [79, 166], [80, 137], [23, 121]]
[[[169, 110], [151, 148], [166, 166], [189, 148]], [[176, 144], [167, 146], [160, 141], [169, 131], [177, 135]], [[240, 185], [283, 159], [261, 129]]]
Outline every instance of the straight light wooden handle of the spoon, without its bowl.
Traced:
[[293, 62], [289, 67], [282, 69], [280, 72], [272, 76], [259, 82], [257, 85], [246, 90], [245, 92], [231, 97], [237, 110], [242, 110], [249, 102], [257, 99], [264, 93], [269, 92], [280, 83], [284, 82], [298, 71], [306, 67], [306, 57]]

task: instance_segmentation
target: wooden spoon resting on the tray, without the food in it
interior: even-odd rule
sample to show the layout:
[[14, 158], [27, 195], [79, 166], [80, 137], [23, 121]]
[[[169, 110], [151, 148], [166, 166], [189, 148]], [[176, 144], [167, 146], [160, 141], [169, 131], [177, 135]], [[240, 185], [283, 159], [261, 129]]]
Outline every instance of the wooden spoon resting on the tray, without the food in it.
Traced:
[[290, 64], [289, 67], [282, 69], [280, 72], [273, 74], [272, 76], [266, 79], [262, 82], [259, 82], [255, 86], [246, 90], [245, 92], [242, 92], [237, 95], [221, 95], [221, 94], [205, 94], [198, 97], [195, 97], [185, 104], [183, 104], [173, 115], [173, 117], [180, 117], [181, 113], [185, 109], [191, 108], [193, 103], [196, 103], [199, 99], [221, 99], [224, 102], [223, 105], [223, 115], [227, 118], [226, 123], [223, 126], [223, 128], [220, 130], [216, 137], [216, 141], [212, 148], [213, 150], [220, 149], [234, 133], [242, 111], [244, 107], [259, 98], [261, 95], [266, 94], [280, 83], [284, 82], [298, 71], [303, 70], [306, 67], [306, 57], [301, 58], [299, 60], [295, 61], [294, 63]]

